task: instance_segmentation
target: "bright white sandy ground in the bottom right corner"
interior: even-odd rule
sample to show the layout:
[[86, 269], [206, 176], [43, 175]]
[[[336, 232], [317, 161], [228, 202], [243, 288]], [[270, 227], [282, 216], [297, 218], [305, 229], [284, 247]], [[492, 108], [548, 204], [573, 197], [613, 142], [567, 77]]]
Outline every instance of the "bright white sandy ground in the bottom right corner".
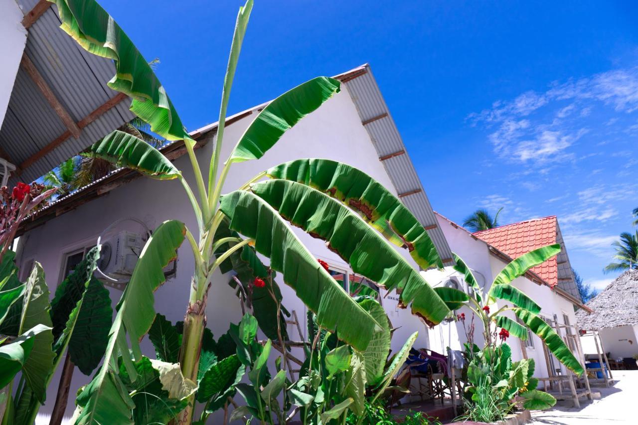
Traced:
[[581, 398], [581, 407], [560, 406], [532, 412], [534, 425], [638, 424], [638, 370], [612, 371], [616, 383], [609, 388], [592, 386], [600, 399]]

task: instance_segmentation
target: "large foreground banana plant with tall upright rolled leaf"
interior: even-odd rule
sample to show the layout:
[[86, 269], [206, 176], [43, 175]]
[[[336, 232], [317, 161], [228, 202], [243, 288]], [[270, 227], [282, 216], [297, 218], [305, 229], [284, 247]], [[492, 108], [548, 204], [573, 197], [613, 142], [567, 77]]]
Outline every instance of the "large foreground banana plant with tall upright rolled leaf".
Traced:
[[[368, 175], [334, 161], [300, 160], [264, 171], [221, 196], [234, 164], [261, 158], [287, 130], [340, 90], [338, 80], [317, 77], [282, 94], [256, 116], [222, 165], [226, 108], [253, 0], [248, 0], [237, 15], [207, 173], [202, 173], [194, 152], [196, 142], [184, 129], [164, 87], [114, 19], [93, 0], [54, 3], [66, 33], [87, 51], [114, 61], [116, 73], [108, 86], [133, 98], [131, 111], [149, 123], [154, 133], [184, 141], [196, 187], [191, 189], [193, 182], [188, 183], [161, 152], [130, 134], [114, 131], [89, 149], [89, 155], [133, 168], [153, 179], [180, 181], [197, 228], [170, 220], [147, 241], [119, 302], [104, 365], [78, 396], [77, 423], [131, 421], [133, 403], [126, 393], [118, 391], [122, 381], [117, 361], [128, 364], [129, 379], [135, 382], [135, 362], [142, 358], [138, 341], [149, 331], [156, 314], [152, 293], [164, 281], [161, 268], [175, 258], [184, 239], [192, 248], [195, 272], [189, 285], [178, 360], [184, 378], [192, 382], [198, 377], [207, 297], [216, 292], [213, 289], [209, 294], [209, 290], [221, 264], [239, 250], [248, 249], [269, 258], [269, 267], [281, 273], [284, 283], [316, 314], [320, 327], [330, 332], [338, 330], [339, 338], [355, 350], [366, 349], [379, 325], [323, 269], [288, 223], [324, 239], [354, 272], [395, 289], [400, 305], [410, 306], [427, 324], [438, 324], [446, 317], [446, 304], [393, 247], [408, 249], [422, 267], [440, 265], [432, 241], [413, 214]], [[316, 177], [329, 181], [322, 181], [322, 186], [316, 179], [305, 178], [300, 174], [304, 169], [316, 170]], [[260, 181], [265, 177], [269, 179]], [[271, 320], [281, 318], [274, 316]], [[191, 422], [195, 398], [195, 394], [189, 397], [188, 406], [179, 415], [180, 423]]]

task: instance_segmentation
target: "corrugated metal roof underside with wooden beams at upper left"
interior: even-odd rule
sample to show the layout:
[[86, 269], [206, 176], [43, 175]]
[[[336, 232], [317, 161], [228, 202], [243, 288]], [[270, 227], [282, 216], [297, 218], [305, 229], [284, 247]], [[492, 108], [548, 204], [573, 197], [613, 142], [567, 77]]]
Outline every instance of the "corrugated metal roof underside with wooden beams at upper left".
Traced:
[[[19, 0], [24, 13], [38, 0]], [[78, 122], [117, 93], [107, 87], [115, 74], [112, 61], [85, 52], [60, 28], [55, 5], [29, 28], [25, 53], [66, 111]], [[130, 101], [122, 101], [82, 130], [79, 139], [69, 137], [36, 161], [18, 180], [33, 181], [59, 163], [84, 150], [110, 131], [133, 119]], [[0, 147], [10, 161], [20, 165], [66, 131], [66, 127], [26, 71], [20, 68], [8, 112], [0, 129]]]

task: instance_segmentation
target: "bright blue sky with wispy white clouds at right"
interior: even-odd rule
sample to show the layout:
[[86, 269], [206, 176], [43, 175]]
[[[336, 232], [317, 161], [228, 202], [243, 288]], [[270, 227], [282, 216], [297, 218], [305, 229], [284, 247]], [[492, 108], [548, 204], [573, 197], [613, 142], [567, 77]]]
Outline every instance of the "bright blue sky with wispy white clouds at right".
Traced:
[[[240, 1], [100, 2], [189, 129], [216, 121]], [[496, 3], [496, 2], [495, 2]], [[434, 208], [558, 215], [598, 288], [638, 207], [632, 2], [256, 1], [229, 112], [370, 63]]]

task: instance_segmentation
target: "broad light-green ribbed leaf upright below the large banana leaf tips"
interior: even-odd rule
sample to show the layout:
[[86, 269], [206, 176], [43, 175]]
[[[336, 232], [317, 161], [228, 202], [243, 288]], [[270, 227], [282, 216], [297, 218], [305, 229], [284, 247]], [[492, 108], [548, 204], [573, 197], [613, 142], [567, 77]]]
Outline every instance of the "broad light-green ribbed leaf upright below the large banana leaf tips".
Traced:
[[[365, 380], [368, 385], [374, 386], [379, 383], [383, 377], [383, 368], [385, 361], [390, 354], [390, 320], [385, 313], [385, 309], [378, 302], [365, 299], [359, 302], [359, 305], [366, 310], [380, 325], [370, 338], [367, 348], [361, 352], [362, 362], [365, 368]], [[352, 397], [352, 395], [350, 395]], [[359, 403], [359, 399], [353, 397], [355, 405]]]

